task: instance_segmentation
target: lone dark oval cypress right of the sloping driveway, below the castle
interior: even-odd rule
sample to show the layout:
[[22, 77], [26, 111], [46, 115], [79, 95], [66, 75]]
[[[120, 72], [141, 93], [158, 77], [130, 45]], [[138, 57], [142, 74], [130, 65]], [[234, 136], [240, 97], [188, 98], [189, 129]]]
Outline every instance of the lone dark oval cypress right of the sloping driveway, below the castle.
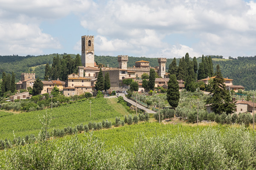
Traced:
[[180, 99], [180, 92], [179, 92], [179, 84], [177, 82], [176, 76], [174, 74], [170, 75], [169, 77], [168, 90], [167, 90], [167, 101], [169, 105], [177, 108]]

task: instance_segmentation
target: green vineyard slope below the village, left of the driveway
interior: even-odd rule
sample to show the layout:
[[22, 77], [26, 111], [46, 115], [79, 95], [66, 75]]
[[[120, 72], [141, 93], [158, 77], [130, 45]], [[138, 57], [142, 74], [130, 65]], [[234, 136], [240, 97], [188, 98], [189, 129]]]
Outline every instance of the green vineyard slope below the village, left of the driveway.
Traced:
[[[63, 129], [64, 127], [88, 122], [101, 122], [103, 119], [114, 122], [116, 116], [122, 118], [125, 112], [117, 112], [113, 103], [108, 104], [108, 99], [90, 99], [91, 117], [90, 117], [90, 101], [77, 101], [72, 104], [60, 106], [58, 108], [45, 109], [42, 111], [32, 111], [23, 113], [0, 112], [0, 139], [13, 139], [13, 131], [15, 136], [26, 136], [29, 134], [37, 135], [41, 130], [39, 117], [42, 118], [46, 113], [52, 113], [52, 121], [50, 130], [53, 128]], [[115, 103], [117, 106], [122, 106]], [[121, 110], [121, 108], [119, 108]], [[126, 110], [125, 110], [126, 111]], [[122, 114], [123, 113], [123, 114]]]

